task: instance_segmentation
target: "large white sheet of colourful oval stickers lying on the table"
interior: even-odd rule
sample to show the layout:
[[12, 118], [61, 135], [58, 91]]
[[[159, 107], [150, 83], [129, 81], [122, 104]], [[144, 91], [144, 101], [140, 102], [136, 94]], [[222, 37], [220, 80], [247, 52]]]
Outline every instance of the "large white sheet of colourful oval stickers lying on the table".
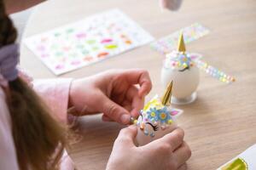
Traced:
[[153, 40], [154, 37], [119, 9], [112, 9], [28, 37], [25, 43], [55, 75], [60, 75]]

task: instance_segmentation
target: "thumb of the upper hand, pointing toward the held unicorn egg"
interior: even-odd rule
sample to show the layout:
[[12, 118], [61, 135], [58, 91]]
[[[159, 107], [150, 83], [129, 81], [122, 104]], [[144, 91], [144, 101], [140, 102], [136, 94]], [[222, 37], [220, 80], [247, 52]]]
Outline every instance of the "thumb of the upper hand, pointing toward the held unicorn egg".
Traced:
[[122, 124], [129, 124], [131, 115], [122, 106], [114, 103], [107, 96], [102, 96], [99, 106], [102, 107], [101, 111], [115, 122]]

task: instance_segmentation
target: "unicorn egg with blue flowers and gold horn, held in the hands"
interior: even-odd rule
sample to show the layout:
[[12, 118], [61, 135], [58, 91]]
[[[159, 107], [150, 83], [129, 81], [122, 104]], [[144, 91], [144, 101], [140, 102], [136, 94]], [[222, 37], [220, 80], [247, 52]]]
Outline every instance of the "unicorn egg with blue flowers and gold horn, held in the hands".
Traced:
[[170, 108], [172, 96], [172, 82], [166, 88], [166, 93], [160, 98], [155, 95], [140, 111], [137, 120], [132, 120], [137, 125], [137, 144], [144, 145], [171, 133], [177, 126], [174, 122], [183, 111]]

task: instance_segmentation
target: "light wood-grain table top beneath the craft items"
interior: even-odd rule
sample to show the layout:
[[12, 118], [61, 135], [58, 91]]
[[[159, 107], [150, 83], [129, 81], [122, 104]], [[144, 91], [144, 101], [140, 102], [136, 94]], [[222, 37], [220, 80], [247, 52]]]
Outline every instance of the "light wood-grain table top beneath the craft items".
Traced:
[[[235, 83], [227, 85], [201, 72], [198, 99], [191, 105], [176, 106], [184, 111], [177, 122], [192, 149], [190, 170], [216, 169], [256, 143], [255, 0], [185, 0], [175, 13], [162, 13], [156, 0], [53, 0], [32, 14], [25, 37], [109, 8], [120, 8], [156, 38], [200, 22], [211, 32], [189, 43], [187, 49], [203, 54], [208, 63], [236, 77]], [[24, 46], [21, 55], [21, 64], [34, 77], [55, 77]], [[86, 77], [113, 68], [146, 68], [154, 82], [149, 99], [162, 92], [162, 59], [146, 45], [61, 77]], [[79, 127], [84, 138], [71, 151], [77, 167], [104, 169], [121, 126], [102, 122], [100, 116], [85, 116]]]

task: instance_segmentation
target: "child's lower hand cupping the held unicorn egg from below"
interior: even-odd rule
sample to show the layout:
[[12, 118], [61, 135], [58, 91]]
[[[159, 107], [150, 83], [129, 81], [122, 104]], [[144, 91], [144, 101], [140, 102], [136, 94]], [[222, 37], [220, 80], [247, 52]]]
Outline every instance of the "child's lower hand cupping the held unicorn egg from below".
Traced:
[[134, 144], [137, 127], [122, 129], [113, 144], [107, 170], [185, 170], [191, 156], [189, 145], [183, 141], [183, 129], [177, 127], [161, 139], [137, 147]]

